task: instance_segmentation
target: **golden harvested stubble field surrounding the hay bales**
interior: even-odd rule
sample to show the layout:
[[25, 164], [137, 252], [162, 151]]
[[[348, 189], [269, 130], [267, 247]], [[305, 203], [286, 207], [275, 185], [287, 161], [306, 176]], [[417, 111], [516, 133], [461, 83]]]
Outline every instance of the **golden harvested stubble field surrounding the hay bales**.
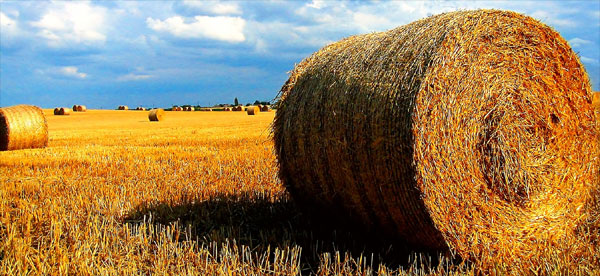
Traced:
[[301, 217], [275, 112], [44, 113], [48, 148], [0, 152], [0, 275], [475, 273]]

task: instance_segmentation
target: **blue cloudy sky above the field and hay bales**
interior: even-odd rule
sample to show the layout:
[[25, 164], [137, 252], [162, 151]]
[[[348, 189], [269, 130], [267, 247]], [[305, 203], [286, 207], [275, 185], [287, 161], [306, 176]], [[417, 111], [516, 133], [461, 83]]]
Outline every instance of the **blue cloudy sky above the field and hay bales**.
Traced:
[[0, 0], [0, 106], [273, 99], [294, 64], [344, 37], [458, 9], [552, 26], [600, 90], [600, 1]]

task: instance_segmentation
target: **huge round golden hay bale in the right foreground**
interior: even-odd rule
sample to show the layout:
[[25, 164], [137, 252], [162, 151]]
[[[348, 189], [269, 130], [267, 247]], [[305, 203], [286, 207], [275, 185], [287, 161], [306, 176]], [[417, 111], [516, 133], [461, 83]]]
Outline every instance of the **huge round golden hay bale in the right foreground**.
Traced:
[[590, 97], [567, 41], [514, 12], [349, 37], [280, 91], [280, 177], [309, 213], [468, 259], [528, 260], [574, 235], [600, 185]]

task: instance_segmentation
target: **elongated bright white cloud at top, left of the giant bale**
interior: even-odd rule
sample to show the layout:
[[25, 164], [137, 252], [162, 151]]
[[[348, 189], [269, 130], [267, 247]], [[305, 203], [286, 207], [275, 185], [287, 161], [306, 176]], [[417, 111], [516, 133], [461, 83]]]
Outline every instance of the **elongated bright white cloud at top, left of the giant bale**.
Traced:
[[181, 38], [208, 38], [227, 42], [242, 42], [246, 21], [240, 17], [196, 16], [186, 20], [173, 16], [165, 20], [148, 17], [146, 24], [155, 31], [169, 32]]

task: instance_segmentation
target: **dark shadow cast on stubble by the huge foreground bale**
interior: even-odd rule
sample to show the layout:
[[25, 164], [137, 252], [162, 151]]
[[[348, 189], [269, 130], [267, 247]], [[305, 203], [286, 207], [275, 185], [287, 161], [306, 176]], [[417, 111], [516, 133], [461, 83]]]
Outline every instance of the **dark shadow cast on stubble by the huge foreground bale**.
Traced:
[[214, 196], [205, 201], [183, 204], [142, 204], [124, 218], [139, 223], [152, 217], [155, 224], [177, 223], [189, 228], [193, 237], [205, 243], [236, 240], [255, 252], [267, 248], [302, 247], [301, 270], [315, 273], [323, 253], [339, 251], [364, 256], [373, 269], [408, 267], [415, 260], [437, 266], [442, 252], [415, 251], [402, 240], [382, 238], [342, 219], [304, 215], [288, 199], [257, 199], [255, 196]]

